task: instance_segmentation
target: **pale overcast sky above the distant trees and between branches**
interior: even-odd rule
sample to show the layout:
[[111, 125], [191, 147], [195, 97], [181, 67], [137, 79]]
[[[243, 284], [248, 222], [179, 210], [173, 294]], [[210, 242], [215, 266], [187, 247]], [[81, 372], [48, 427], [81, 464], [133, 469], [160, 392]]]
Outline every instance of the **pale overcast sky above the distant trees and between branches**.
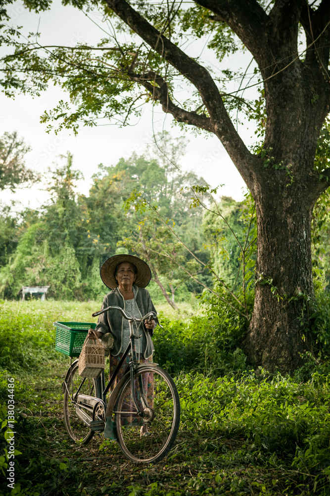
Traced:
[[[36, 32], [39, 24], [42, 44], [92, 44], [104, 36], [100, 27], [84, 13], [70, 6], [61, 6], [60, 0], [54, 0], [52, 9], [40, 15], [27, 12], [20, 1], [12, 7], [9, 6], [8, 11], [13, 23], [24, 26], [26, 32]], [[99, 16], [90, 15], [99, 26], [104, 27]], [[191, 55], [195, 56], [196, 46], [190, 46], [189, 49], [192, 51]], [[206, 62], [213, 63], [207, 59], [207, 53], [205, 57]], [[247, 53], [239, 58], [232, 58], [231, 65], [245, 68], [250, 59]], [[172, 136], [183, 135], [178, 127], [171, 125], [173, 120], [170, 115], [166, 116], [157, 106], [152, 111], [151, 105], [145, 106], [141, 119], [133, 118], [131, 125], [123, 128], [106, 123], [94, 128], [82, 127], [78, 136], [67, 130], [57, 136], [53, 132], [47, 134], [46, 124], [40, 124], [40, 116], [45, 110], [55, 107], [60, 99], [67, 100], [67, 95], [58, 87], [50, 87], [41, 97], [34, 99], [19, 95], [15, 100], [11, 100], [0, 93], [0, 135], [4, 131], [17, 130], [19, 136], [24, 137], [32, 148], [26, 155], [27, 167], [43, 174], [48, 167], [61, 163], [59, 155], [70, 151], [73, 154], [73, 167], [82, 171], [85, 178], [79, 185], [80, 192], [84, 194], [88, 193], [90, 178], [99, 163], [106, 166], [115, 165], [119, 158], [128, 158], [134, 151], [142, 153], [146, 145], [153, 141], [154, 131], [166, 129]], [[252, 142], [251, 126], [241, 126], [239, 132], [246, 144]], [[221, 194], [232, 196], [236, 200], [242, 199], [245, 184], [219, 139], [213, 135], [207, 137], [205, 133], [195, 137], [189, 128], [185, 136], [189, 144], [187, 153], [181, 160], [182, 168], [202, 176], [212, 187], [224, 184]], [[40, 186], [20, 189], [15, 194], [4, 191], [1, 192], [1, 200], [8, 202], [15, 199], [21, 201], [24, 206], [38, 208], [47, 199], [47, 193], [39, 188]]]

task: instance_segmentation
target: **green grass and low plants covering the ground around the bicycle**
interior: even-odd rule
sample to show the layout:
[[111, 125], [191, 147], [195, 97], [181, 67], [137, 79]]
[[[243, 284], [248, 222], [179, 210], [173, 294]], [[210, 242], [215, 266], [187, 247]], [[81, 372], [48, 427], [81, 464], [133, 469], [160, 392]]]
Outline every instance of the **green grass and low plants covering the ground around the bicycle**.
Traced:
[[[116, 442], [103, 442], [98, 435], [87, 445], [71, 442], [61, 389], [69, 359], [53, 351], [52, 322], [93, 321], [90, 315], [98, 307], [97, 302], [0, 306], [0, 342], [10, 336], [18, 343], [7, 360], [12, 369], [6, 372], [2, 365], [0, 375], [2, 419], [7, 378], [15, 378], [15, 449], [21, 454], [15, 456], [12, 496], [330, 494], [326, 373], [314, 372], [306, 382], [259, 370], [233, 370], [221, 377], [206, 369], [176, 373], [181, 427], [174, 448], [156, 465], [129, 462]], [[189, 311], [183, 308], [182, 315]], [[8, 355], [5, 348], [0, 347], [0, 360]], [[8, 448], [4, 431], [5, 426], [0, 466]], [[0, 494], [8, 494], [5, 483]]]

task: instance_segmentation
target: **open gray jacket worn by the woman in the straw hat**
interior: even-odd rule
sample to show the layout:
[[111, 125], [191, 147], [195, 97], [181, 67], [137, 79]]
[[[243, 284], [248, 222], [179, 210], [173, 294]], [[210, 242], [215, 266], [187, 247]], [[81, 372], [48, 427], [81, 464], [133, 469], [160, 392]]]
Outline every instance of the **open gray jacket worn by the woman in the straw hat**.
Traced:
[[[138, 288], [137, 286], [136, 289], [137, 294], [135, 297], [135, 301], [137, 303], [141, 317], [143, 317], [143, 315], [145, 315], [149, 311], [153, 311], [157, 314], [147, 290], [144, 288]], [[118, 288], [113, 289], [104, 297], [102, 309], [110, 306], [120, 307], [125, 310], [125, 300]], [[120, 352], [123, 338], [123, 323], [124, 317], [119, 310], [110, 310], [102, 313], [98, 317], [98, 322], [95, 330], [98, 332], [102, 332], [103, 334], [106, 332], [111, 332], [114, 339], [114, 346], [111, 350], [111, 355], [113, 356], [118, 355]], [[151, 335], [150, 332], [146, 329], [144, 323], [140, 325], [139, 329], [144, 332], [145, 339], [143, 341], [146, 343], [145, 349], [142, 350], [142, 355], [143, 358], [148, 358], [154, 351]]]

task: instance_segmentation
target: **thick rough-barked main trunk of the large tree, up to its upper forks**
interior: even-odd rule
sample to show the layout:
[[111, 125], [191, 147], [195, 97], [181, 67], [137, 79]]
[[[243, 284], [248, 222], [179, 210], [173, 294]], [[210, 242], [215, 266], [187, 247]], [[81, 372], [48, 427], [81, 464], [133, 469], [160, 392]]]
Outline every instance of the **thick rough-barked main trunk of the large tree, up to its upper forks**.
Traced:
[[[252, 364], [270, 372], [295, 370], [308, 351], [312, 212], [328, 186], [314, 170], [329, 99], [318, 81], [306, 76], [300, 62], [288, 67], [285, 79], [279, 74], [267, 81], [264, 151], [254, 167], [257, 180], [247, 177], [255, 199], [258, 250], [255, 303], [242, 347]], [[320, 95], [317, 105], [311, 94]]]

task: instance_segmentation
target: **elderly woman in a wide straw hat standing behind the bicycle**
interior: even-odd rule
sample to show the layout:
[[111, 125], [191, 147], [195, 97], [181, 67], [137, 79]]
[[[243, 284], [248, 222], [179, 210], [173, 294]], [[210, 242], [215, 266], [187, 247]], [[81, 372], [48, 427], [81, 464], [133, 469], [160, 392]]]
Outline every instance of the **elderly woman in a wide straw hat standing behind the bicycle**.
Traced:
[[[110, 306], [121, 307], [128, 314], [137, 318], [141, 318], [149, 311], [156, 313], [150, 295], [144, 289], [150, 282], [151, 271], [149, 266], [141, 258], [133, 255], [111, 256], [103, 263], [100, 275], [103, 283], [112, 289], [104, 297], [102, 309]], [[151, 337], [155, 325], [154, 320], [148, 321], [145, 319], [142, 324], [142, 332], [141, 327], [139, 328], [141, 337], [136, 339], [135, 347], [140, 363], [152, 362], [154, 347]], [[92, 339], [100, 338], [105, 348], [111, 348], [109, 355], [109, 377], [111, 377], [130, 341], [128, 320], [118, 310], [102, 313], [98, 317], [95, 331], [90, 329], [88, 336]], [[127, 357], [127, 364], [129, 361], [130, 358]], [[116, 386], [123, 374], [124, 369], [118, 373], [111, 390]], [[152, 377], [149, 378], [145, 386], [147, 388], [147, 396], [153, 396]], [[104, 437], [115, 438], [114, 433], [111, 432], [111, 427], [113, 426], [110, 426], [107, 421]], [[145, 428], [141, 430], [141, 435], [143, 434], [147, 434]]]

